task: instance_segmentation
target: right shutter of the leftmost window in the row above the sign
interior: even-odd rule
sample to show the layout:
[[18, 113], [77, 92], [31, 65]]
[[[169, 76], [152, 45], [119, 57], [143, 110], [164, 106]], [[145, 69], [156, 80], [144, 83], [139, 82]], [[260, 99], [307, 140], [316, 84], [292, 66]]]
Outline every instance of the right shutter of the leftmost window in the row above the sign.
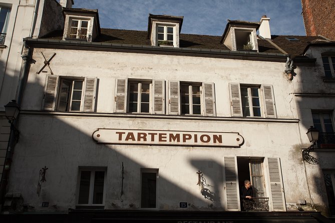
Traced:
[[97, 77], [85, 77], [81, 111], [94, 111], [97, 90]]

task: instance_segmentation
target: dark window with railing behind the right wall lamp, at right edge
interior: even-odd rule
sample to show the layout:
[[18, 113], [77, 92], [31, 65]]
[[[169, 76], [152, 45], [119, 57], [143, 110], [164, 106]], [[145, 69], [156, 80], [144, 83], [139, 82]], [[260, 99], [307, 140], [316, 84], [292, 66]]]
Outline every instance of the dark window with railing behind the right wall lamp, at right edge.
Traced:
[[333, 128], [333, 119], [329, 111], [312, 111], [314, 127], [319, 131], [317, 144], [323, 147], [323, 144], [335, 144], [335, 133]]

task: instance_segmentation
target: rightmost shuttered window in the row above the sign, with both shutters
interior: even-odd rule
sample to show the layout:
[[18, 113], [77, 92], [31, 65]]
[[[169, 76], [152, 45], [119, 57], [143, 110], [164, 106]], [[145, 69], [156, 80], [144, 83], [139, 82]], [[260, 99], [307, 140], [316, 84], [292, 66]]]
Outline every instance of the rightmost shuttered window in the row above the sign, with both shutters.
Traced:
[[229, 83], [232, 116], [276, 117], [272, 85]]

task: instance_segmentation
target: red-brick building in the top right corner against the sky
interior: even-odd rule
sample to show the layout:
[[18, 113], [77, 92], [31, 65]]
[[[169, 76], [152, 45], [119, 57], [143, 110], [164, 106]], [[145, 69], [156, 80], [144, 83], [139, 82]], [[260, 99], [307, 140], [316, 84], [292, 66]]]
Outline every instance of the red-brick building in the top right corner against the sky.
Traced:
[[323, 35], [335, 40], [333, 0], [301, 0], [306, 35]]

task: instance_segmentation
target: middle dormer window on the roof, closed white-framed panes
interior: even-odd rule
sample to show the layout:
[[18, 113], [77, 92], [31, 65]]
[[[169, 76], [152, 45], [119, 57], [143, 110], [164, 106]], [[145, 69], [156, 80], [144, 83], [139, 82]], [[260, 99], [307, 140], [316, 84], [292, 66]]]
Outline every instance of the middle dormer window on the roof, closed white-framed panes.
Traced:
[[183, 16], [149, 14], [148, 38], [153, 46], [179, 47]]

